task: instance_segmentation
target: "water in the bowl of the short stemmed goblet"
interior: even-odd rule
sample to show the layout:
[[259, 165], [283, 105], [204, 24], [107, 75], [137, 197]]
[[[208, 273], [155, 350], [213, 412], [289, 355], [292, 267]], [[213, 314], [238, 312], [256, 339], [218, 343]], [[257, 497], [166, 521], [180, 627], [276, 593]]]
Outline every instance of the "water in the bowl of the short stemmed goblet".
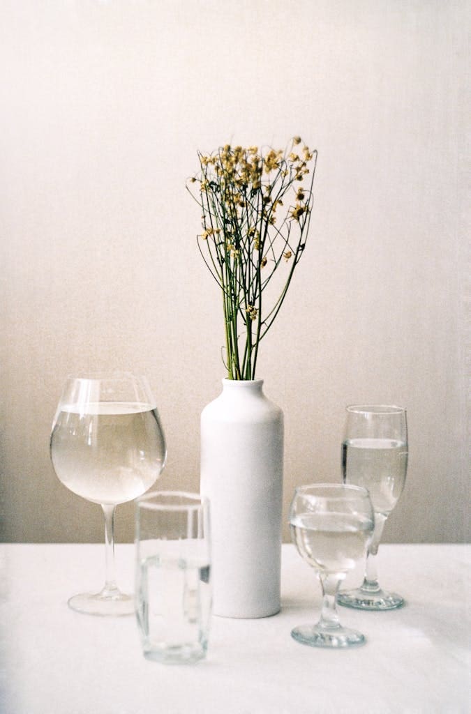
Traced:
[[323, 573], [347, 573], [365, 557], [373, 523], [347, 513], [299, 513], [290, 526], [309, 565]]

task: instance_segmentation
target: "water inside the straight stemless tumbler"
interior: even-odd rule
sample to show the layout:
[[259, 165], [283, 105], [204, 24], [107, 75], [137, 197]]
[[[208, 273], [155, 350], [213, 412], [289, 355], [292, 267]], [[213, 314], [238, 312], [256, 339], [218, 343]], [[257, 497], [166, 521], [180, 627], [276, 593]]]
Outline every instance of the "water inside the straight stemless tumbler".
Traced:
[[209, 565], [152, 555], [139, 564], [137, 580], [144, 655], [167, 663], [204, 658], [211, 610]]

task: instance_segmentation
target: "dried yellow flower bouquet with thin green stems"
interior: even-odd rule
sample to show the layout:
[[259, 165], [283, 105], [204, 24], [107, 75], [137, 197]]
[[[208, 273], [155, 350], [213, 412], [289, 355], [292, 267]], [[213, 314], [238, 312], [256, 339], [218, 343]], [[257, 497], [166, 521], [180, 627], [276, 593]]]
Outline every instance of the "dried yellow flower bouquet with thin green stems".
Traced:
[[189, 191], [202, 208], [199, 250], [222, 288], [227, 376], [250, 380], [304, 251], [317, 151], [297, 136], [285, 151], [227, 144], [198, 157]]

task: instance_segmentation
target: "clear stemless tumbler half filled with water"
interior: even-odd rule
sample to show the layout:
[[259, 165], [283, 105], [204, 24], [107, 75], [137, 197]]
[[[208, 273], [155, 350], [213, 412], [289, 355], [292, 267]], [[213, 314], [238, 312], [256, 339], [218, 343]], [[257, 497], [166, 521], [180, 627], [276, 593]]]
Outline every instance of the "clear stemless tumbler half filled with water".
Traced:
[[154, 491], [136, 501], [136, 613], [144, 657], [206, 656], [212, 607], [209, 501]]

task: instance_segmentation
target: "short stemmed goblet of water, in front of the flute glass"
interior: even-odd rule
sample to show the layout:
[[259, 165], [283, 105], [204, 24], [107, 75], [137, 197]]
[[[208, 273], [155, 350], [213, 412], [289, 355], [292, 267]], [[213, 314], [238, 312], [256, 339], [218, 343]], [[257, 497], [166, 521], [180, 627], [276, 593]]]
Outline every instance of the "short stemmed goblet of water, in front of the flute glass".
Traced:
[[312, 647], [344, 648], [365, 643], [365, 635], [342, 627], [336, 598], [340, 583], [365, 558], [375, 527], [365, 488], [334, 483], [299, 486], [289, 512], [292, 540], [299, 555], [317, 570], [322, 612], [316, 625], [299, 625], [294, 640]]

